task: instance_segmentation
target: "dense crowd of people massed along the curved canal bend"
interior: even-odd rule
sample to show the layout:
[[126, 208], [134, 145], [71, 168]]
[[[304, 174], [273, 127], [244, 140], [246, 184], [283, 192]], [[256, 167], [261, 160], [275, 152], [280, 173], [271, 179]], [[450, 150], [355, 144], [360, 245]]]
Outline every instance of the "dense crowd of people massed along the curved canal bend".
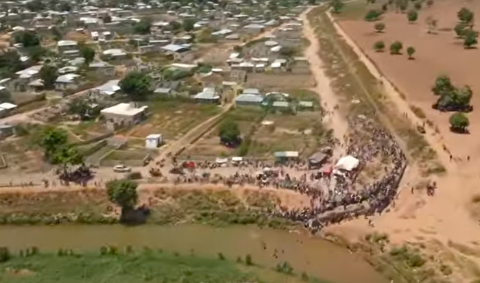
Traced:
[[[352, 127], [359, 129], [359, 127]], [[392, 158], [392, 167], [387, 168], [385, 175], [380, 180], [355, 190], [355, 177], [348, 180], [339, 177], [334, 193], [311, 201], [309, 208], [301, 210], [280, 210], [275, 214], [287, 217], [293, 221], [302, 221], [305, 227], [312, 232], [317, 232], [324, 225], [339, 223], [344, 219], [357, 218], [360, 215], [381, 213], [394, 200], [398, 184], [407, 164], [406, 156], [394, 137], [376, 126], [372, 121], [363, 121], [361, 131], [368, 131], [371, 142], [365, 145], [355, 138], [347, 140], [347, 153], [356, 156], [362, 164], [372, 160], [375, 156], [389, 156]], [[365, 132], [364, 132], [365, 133]], [[356, 136], [355, 133], [352, 136]], [[315, 199], [316, 195], [312, 196]]]

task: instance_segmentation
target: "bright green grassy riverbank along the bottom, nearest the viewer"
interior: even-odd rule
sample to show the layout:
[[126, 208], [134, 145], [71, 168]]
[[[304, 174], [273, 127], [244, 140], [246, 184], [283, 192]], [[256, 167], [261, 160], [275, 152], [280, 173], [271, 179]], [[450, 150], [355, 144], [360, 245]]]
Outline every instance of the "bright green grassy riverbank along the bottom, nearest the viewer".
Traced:
[[289, 263], [275, 269], [262, 267], [250, 255], [205, 258], [161, 249], [101, 247], [97, 253], [58, 249], [45, 253], [36, 248], [0, 253], [0, 276], [5, 282], [291, 282], [326, 283], [296, 273]]

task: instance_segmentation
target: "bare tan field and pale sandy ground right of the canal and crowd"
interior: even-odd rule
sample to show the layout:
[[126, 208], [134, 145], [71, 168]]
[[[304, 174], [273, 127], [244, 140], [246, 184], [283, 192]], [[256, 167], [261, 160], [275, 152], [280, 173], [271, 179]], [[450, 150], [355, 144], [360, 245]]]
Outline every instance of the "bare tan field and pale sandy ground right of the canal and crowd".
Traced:
[[[383, 80], [385, 94], [396, 102], [400, 111], [409, 114], [413, 123], [418, 124], [418, 119], [408, 109], [408, 103], [424, 108], [428, 118], [440, 127], [440, 134], [435, 134], [430, 129], [426, 135], [448, 171], [445, 176], [436, 177], [438, 189], [435, 196], [427, 197], [424, 190], [416, 190], [415, 193], [411, 193], [411, 187], [418, 184], [422, 178], [418, 174], [418, 169], [414, 166], [409, 167], [400, 185], [401, 193], [398, 200], [391, 208], [392, 211], [374, 217], [373, 230], [387, 232], [394, 243], [427, 243], [433, 240], [478, 265], [480, 258], [477, 255], [467, 255], [465, 251], [447, 248], [447, 246], [448, 243], [455, 243], [475, 250], [480, 238], [478, 219], [472, 217], [469, 209], [472, 197], [480, 193], [477, 188], [480, 177], [479, 162], [477, 161], [480, 143], [475, 136], [480, 125], [472, 125], [470, 127], [472, 134], [470, 135], [456, 135], [448, 132], [449, 114], [440, 114], [431, 110], [431, 104], [435, 101], [435, 97], [431, 94], [430, 88], [436, 75], [448, 73], [454, 82], [470, 84], [474, 93], [479, 91], [480, 82], [477, 82], [477, 72], [475, 71], [478, 66], [475, 60], [480, 58], [479, 51], [477, 49], [464, 50], [455, 43], [452, 32], [427, 35], [422, 25], [424, 18], [432, 13], [435, 16], [442, 15], [440, 27], [453, 27], [457, 10], [463, 5], [471, 6], [473, 3], [478, 2], [439, 1], [437, 3], [435, 1], [435, 8], [431, 8], [424, 14], [420, 13], [422, 18], [419, 19], [418, 24], [413, 25], [407, 24], [405, 14], [387, 14], [385, 23], [388, 31], [385, 34], [372, 33], [372, 23], [363, 21], [341, 21], [341, 28], [346, 33], [341, 29], [337, 29], [337, 32], [344, 36], [346, 42], [353, 47], [361, 60], [368, 60], [368, 58], [360, 53], [361, 50], [355, 46], [355, 42], [374, 60], [379, 66], [379, 71], [385, 77], [374, 70], [375, 66], [372, 62], [365, 61], [365, 65], [373, 75]], [[478, 7], [474, 10], [480, 12]], [[353, 40], [348, 36], [351, 36]], [[404, 46], [415, 46], [418, 51], [417, 59], [407, 60], [406, 56], [374, 53], [371, 50], [373, 42], [380, 39], [385, 42], [398, 39], [404, 42]], [[448, 56], [444, 56], [445, 54]], [[467, 65], [466, 62], [471, 62], [471, 64]], [[400, 93], [397, 93], [386, 79], [390, 79], [400, 91], [405, 93], [407, 102], [398, 99]], [[475, 107], [480, 102], [474, 97], [472, 103]], [[470, 121], [475, 123], [477, 115], [480, 113], [474, 110], [470, 114]], [[462, 159], [449, 162], [447, 153], [439, 150], [443, 144], [453, 151], [454, 156], [460, 156]], [[470, 156], [471, 161], [467, 161], [466, 156]], [[335, 232], [355, 241], [359, 236], [372, 232], [372, 227], [368, 226], [367, 220], [358, 219], [328, 227], [327, 232]], [[466, 280], [465, 278], [461, 279], [461, 281]]]

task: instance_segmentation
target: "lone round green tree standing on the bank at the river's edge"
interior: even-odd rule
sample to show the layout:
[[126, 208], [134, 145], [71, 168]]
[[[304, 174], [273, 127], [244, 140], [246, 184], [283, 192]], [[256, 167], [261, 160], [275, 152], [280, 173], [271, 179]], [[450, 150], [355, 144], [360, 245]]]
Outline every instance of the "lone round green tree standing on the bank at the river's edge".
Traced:
[[130, 180], [113, 180], [106, 184], [108, 199], [118, 204], [122, 210], [131, 210], [135, 207], [138, 195], [136, 182]]

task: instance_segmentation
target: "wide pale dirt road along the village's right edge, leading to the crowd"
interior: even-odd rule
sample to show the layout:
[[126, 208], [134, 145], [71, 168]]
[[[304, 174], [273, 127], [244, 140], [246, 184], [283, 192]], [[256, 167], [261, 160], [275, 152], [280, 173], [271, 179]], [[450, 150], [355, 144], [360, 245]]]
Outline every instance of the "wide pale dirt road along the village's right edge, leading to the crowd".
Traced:
[[[330, 86], [330, 79], [326, 77], [323, 71], [324, 63], [318, 56], [320, 44], [315, 35], [314, 29], [311, 27], [309, 20], [307, 19], [307, 13], [310, 12], [311, 9], [312, 8], [309, 8], [300, 15], [300, 19], [302, 19], [303, 22], [304, 37], [310, 42], [309, 47], [304, 51], [304, 56], [309, 60], [310, 69], [315, 78], [316, 86], [313, 90], [320, 95], [322, 107], [326, 111], [326, 123], [331, 129], [333, 129], [335, 138], [343, 142], [344, 136], [348, 131], [348, 123], [345, 117], [342, 116], [338, 110], [335, 110], [335, 106], [339, 105], [339, 101]], [[341, 152], [337, 154], [341, 154]]]

